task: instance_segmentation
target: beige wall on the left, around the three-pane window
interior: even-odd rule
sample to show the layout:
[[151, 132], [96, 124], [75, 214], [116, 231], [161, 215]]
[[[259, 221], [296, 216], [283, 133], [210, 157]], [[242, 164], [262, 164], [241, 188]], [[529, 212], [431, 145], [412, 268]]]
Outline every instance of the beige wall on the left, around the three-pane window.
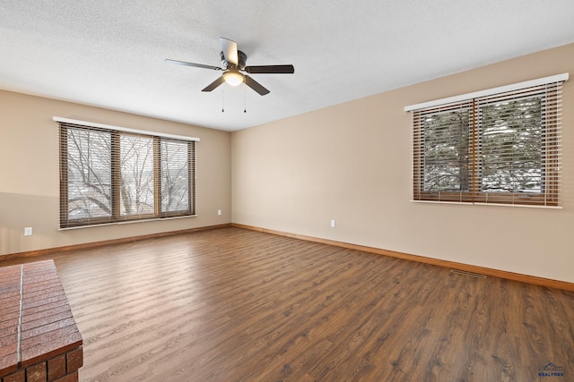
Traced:
[[[197, 216], [58, 231], [59, 163], [54, 115], [188, 135], [196, 149]], [[0, 256], [231, 221], [230, 132], [0, 90]], [[222, 209], [222, 216], [217, 215]], [[25, 226], [33, 228], [24, 236]]]

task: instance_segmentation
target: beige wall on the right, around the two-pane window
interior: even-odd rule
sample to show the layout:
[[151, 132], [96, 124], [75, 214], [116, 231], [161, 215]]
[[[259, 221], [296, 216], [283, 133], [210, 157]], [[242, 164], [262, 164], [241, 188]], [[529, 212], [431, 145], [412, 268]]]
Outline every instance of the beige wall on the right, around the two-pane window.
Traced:
[[574, 282], [574, 79], [564, 86], [563, 209], [411, 202], [403, 109], [561, 72], [574, 74], [574, 44], [233, 132], [232, 220]]

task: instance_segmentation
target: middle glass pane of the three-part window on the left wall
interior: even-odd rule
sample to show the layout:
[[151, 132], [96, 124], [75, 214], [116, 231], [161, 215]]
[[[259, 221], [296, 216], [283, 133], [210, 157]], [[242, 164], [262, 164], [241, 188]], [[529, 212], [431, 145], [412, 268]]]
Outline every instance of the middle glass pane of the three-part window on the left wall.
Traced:
[[153, 214], [153, 139], [120, 135], [120, 215]]

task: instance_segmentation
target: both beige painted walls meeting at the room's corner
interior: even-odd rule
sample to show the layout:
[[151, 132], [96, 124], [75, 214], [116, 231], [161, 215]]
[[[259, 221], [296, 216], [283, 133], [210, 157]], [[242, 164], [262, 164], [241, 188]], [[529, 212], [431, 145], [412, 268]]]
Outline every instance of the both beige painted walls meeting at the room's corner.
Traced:
[[[0, 90], [0, 256], [233, 221], [574, 282], [574, 80], [564, 87], [559, 210], [411, 202], [403, 111], [561, 72], [574, 73], [574, 44], [232, 134]], [[57, 231], [53, 115], [200, 138], [198, 216]]]

